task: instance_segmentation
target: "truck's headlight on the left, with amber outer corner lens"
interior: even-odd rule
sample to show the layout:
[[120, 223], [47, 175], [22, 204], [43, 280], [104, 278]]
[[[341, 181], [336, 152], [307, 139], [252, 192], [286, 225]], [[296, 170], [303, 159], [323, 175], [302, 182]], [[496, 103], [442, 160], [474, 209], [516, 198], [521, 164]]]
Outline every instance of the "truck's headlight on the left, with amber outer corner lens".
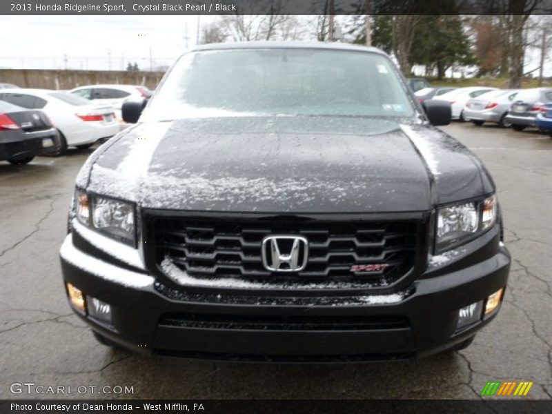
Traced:
[[75, 203], [81, 223], [126, 244], [135, 244], [134, 204], [81, 191], [77, 191]]

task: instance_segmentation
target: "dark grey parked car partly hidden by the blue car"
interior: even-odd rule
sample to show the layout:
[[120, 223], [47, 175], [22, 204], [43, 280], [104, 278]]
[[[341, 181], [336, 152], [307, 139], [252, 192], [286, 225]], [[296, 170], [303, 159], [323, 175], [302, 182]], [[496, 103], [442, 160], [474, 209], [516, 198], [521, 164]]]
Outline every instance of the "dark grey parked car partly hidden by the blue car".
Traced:
[[537, 126], [537, 114], [544, 103], [550, 101], [552, 101], [552, 88], [520, 90], [505, 119], [516, 131], [522, 131], [528, 126]]

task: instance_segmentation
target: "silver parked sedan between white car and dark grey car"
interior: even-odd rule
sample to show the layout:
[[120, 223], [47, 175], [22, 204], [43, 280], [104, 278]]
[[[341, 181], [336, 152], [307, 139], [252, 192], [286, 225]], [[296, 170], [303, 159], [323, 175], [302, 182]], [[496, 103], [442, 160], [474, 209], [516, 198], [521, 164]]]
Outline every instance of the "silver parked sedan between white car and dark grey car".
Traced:
[[464, 118], [475, 125], [494, 122], [498, 126], [509, 128], [512, 124], [506, 119], [506, 114], [517, 92], [519, 91], [515, 89], [492, 90], [470, 99], [464, 108]]

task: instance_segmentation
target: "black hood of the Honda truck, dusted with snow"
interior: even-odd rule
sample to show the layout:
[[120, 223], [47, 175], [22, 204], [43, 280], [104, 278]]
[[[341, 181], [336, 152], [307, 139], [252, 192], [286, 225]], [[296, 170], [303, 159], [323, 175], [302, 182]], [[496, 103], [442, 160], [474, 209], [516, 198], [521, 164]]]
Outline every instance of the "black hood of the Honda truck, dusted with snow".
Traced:
[[483, 193], [457, 141], [383, 119], [181, 119], [138, 124], [108, 144], [87, 162], [88, 190], [144, 208], [401, 212]]

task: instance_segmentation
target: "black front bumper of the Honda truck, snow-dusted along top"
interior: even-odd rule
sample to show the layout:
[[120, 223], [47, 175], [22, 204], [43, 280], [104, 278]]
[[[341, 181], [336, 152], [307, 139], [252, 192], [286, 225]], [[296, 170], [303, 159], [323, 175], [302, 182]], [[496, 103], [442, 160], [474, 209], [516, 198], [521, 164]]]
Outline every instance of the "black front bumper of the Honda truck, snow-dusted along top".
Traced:
[[[402, 295], [380, 297], [370, 292], [335, 297], [327, 291], [275, 297], [253, 289], [195, 293], [139, 270], [124, 252], [112, 261], [84, 252], [72, 234], [61, 248], [61, 267], [65, 282], [110, 304], [112, 323], [75, 309], [77, 314], [101, 335], [137, 353], [273, 362], [409, 359], [451, 348], [495, 317], [497, 311], [456, 330], [460, 308], [506, 286], [506, 248], [501, 244], [481, 259], [498, 237], [498, 229], [490, 231], [464, 248], [469, 257], [428, 270]], [[97, 246], [100, 242], [92, 240]]]

